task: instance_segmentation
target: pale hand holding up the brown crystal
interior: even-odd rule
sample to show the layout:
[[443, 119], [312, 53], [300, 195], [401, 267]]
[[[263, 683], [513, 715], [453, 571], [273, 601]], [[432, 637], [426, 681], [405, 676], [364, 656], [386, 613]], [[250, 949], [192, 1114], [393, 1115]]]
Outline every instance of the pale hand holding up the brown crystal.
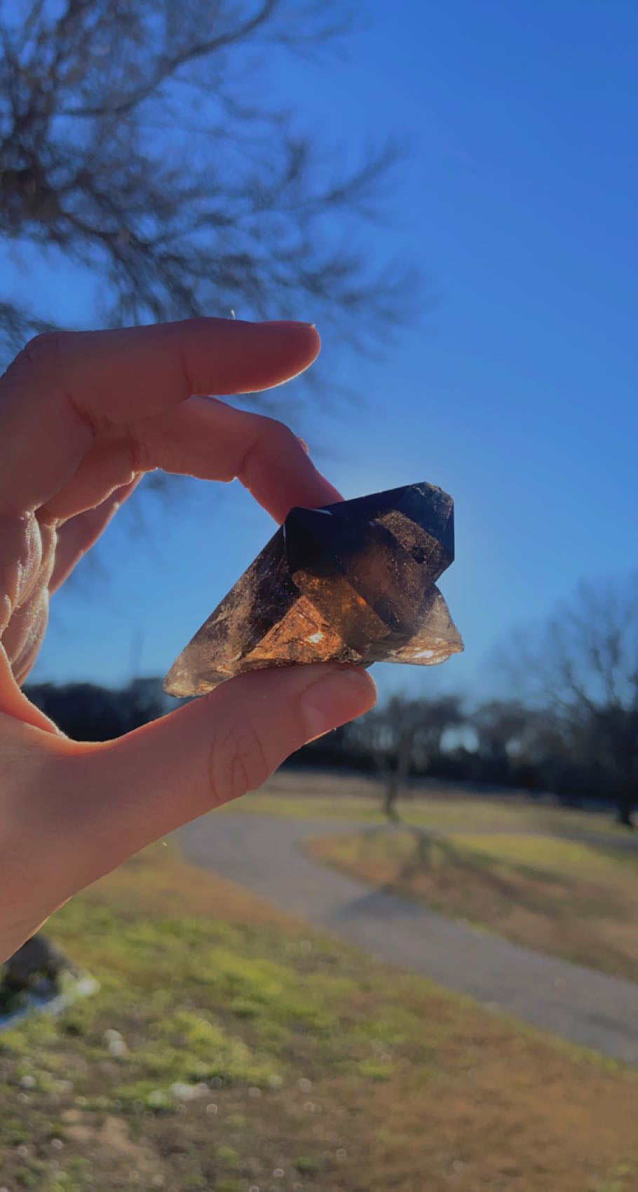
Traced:
[[193, 396], [270, 389], [318, 348], [305, 323], [188, 319], [38, 336], [0, 378], [0, 961], [85, 886], [374, 702], [354, 668], [259, 671], [80, 744], [20, 689], [51, 595], [144, 472], [237, 477], [277, 521], [339, 499], [285, 426]]

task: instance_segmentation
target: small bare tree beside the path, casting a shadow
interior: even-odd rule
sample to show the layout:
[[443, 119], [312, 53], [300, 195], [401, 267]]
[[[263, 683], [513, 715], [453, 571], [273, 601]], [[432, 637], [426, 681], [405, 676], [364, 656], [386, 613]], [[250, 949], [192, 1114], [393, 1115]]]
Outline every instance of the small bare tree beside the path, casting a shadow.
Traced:
[[385, 777], [384, 812], [396, 822], [396, 803], [413, 766], [426, 769], [441, 755], [448, 728], [464, 722], [456, 695], [409, 700], [395, 695], [352, 726], [354, 744], [368, 752]]

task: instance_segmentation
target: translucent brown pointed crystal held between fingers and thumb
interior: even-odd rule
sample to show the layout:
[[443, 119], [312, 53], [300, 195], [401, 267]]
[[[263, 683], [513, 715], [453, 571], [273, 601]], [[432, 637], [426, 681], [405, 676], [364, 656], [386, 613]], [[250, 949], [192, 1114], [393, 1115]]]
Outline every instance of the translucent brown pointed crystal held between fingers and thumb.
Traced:
[[295, 663], [445, 662], [463, 650], [435, 581], [454, 558], [452, 498], [410, 484], [323, 509], [291, 509], [165, 679], [211, 691]]

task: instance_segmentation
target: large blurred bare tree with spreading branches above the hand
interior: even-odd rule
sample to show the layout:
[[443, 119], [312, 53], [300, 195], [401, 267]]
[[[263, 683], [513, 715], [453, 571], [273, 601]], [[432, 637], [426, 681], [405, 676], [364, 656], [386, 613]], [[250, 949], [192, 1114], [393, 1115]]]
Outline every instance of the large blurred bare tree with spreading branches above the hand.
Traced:
[[[267, 91], [268, 57], [342, 48], [358, 11], [0, 0], [0, 250], [36, 246], [98, 278], [93, 322], [240, 308], [321, 319], [373, 347], [410, 281], [371, 266], [353, 230], [374, 213], [396, 149], [339, 168]], [[54, 324], [0, 283], [0, 355]]]

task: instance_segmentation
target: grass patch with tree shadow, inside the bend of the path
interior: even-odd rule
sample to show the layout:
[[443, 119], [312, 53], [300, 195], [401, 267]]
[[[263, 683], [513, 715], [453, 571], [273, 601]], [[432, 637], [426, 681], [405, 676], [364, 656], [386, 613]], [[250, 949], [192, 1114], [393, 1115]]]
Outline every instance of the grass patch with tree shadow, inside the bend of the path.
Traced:
[[487, 833], [433, 839], [408, 828], [315, 839], [328, 863], [538, 951], [638, 981], [638, 849]]

